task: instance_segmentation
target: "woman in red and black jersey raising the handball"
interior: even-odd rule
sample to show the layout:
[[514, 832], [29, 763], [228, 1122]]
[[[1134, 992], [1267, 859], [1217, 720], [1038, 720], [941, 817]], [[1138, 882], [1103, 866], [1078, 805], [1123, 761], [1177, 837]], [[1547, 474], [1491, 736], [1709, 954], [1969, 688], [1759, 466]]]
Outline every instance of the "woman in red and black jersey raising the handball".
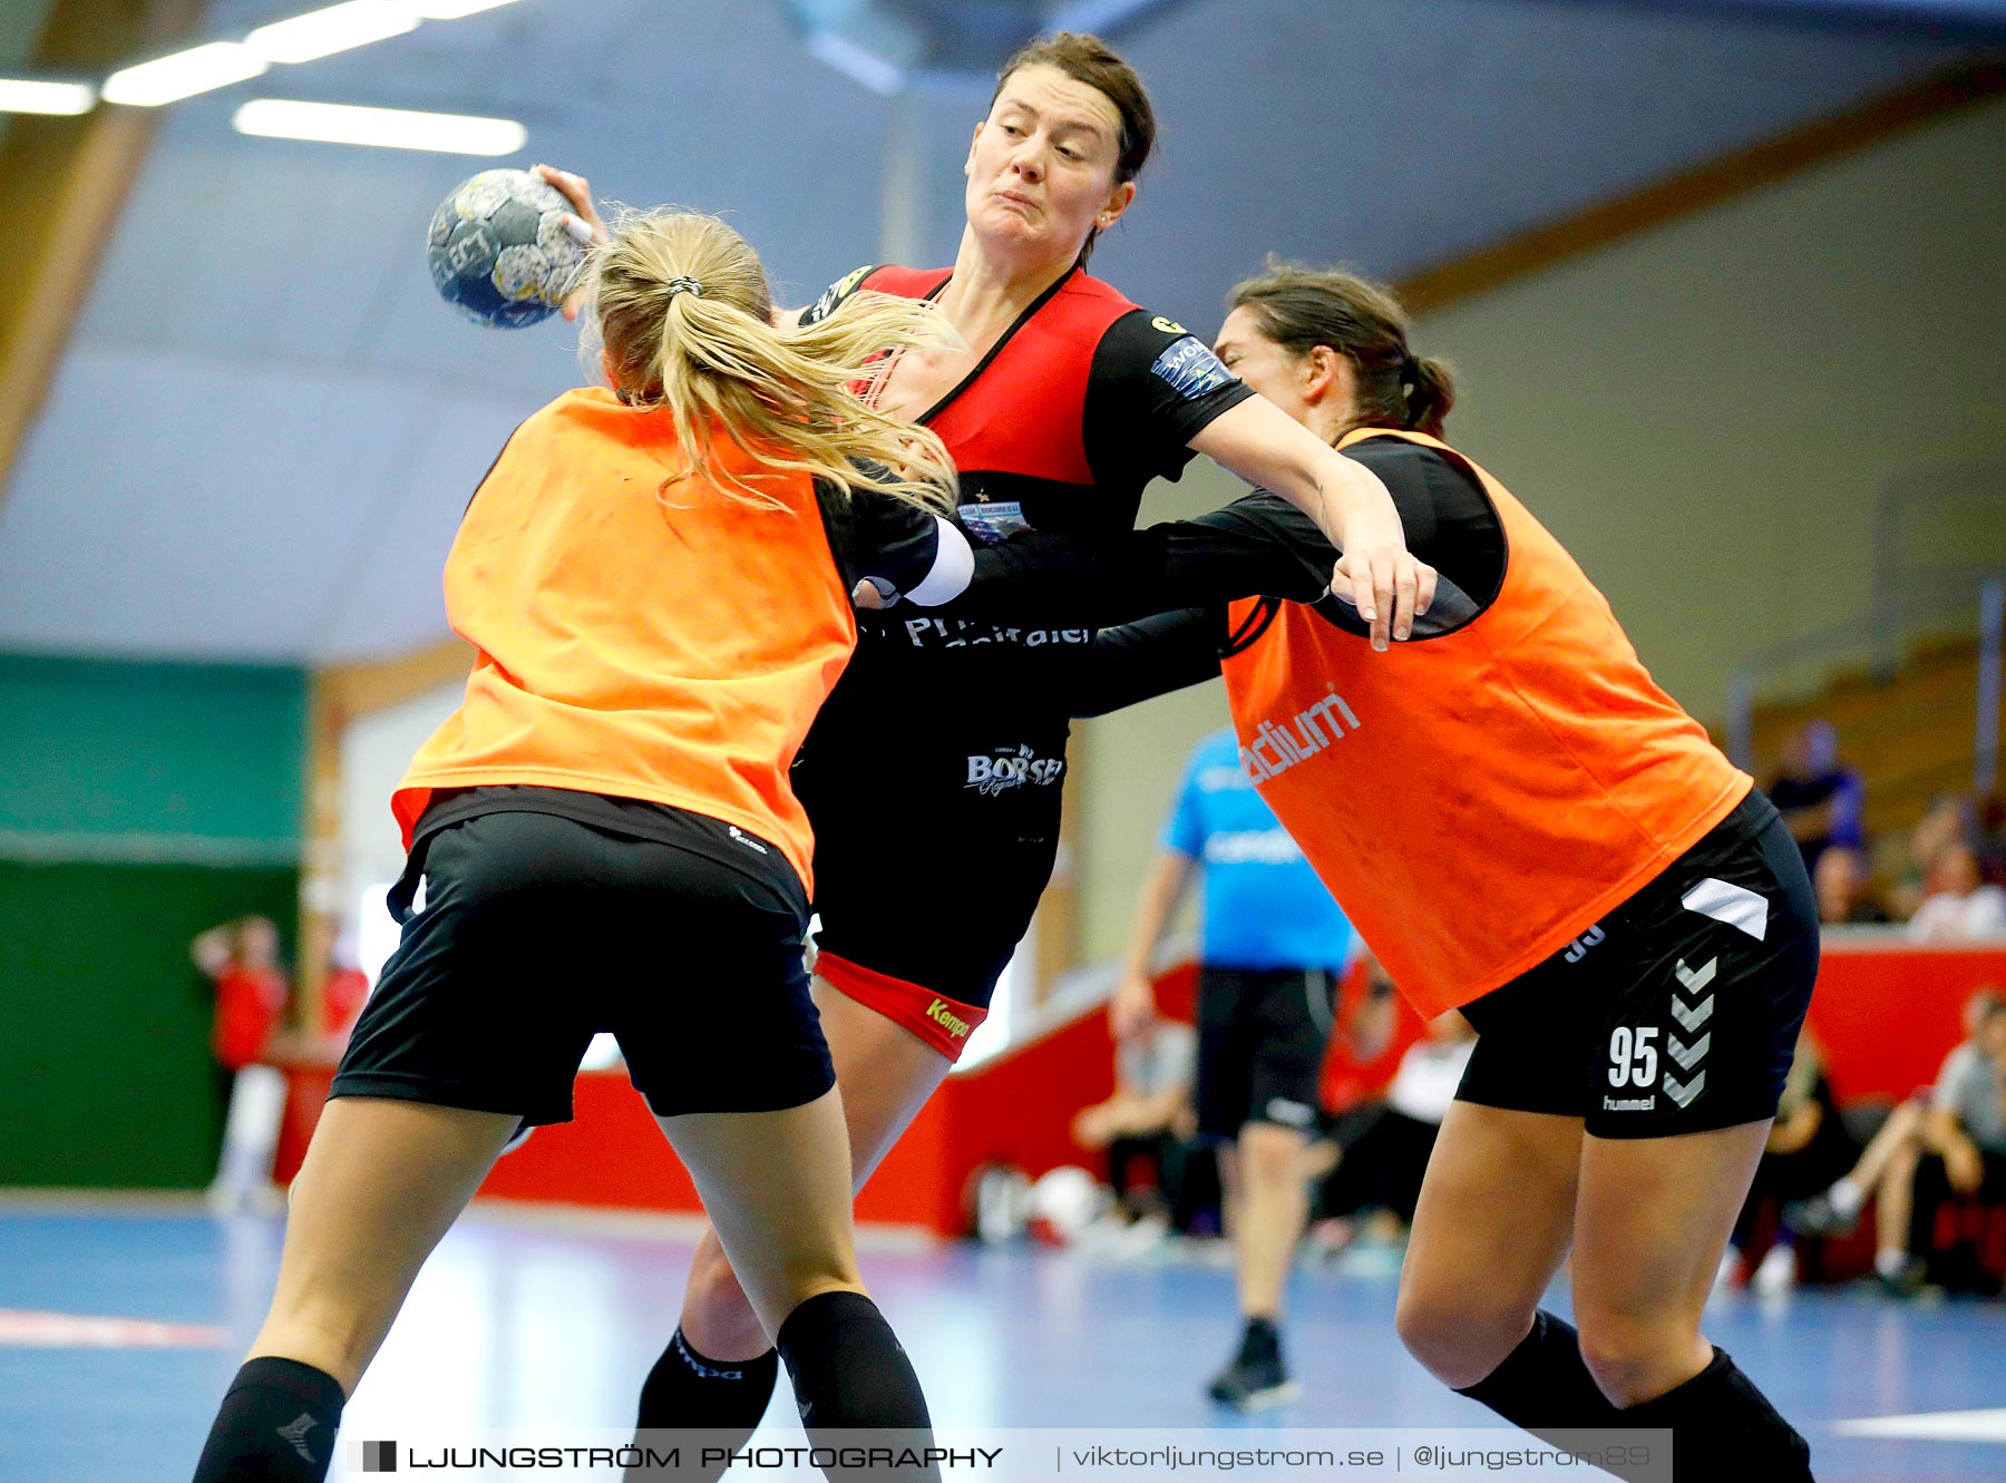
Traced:
[[[1378, 480], [1256, 397], [1182, 325], [1085, 271], [1135, 201], [1155, 118], [1135, 72], [1093, 36], [1057, 34], [1005, 64], [965, 165], [953, 267], [859, 269], [802, 323], [859, 291], [929, 303], [951, 349], [893, 349], [867, 395], [935, 431], [979, 538], [1015, 530], [1113, 540], [1149, 480], [1206, 454], [1302, 506], [1344, 552], [1338, 582], [1376, 648], [1404, 638], [1432, 574], [1408, 556]], [[588, 185], [542, 169], [596, 223]], [[1017, 949], [1059, 841], [1067, 704], [1055, 670], [1091, 630], [865, 614], [857, 662], [796, 767], [816, 837], [816, 1003], [859, 1184], [945, 1080]], [[915, 702], [925, 708], [915, 710]], [[907, 718], [897, 757], [883, 716]], [[883, 869], [915, 839], [929, 887]], [[682, 1326], [650, 1373], [640, 1425], [750, 1433], [774, 1357], [714, 1236], [698, 1246]]]

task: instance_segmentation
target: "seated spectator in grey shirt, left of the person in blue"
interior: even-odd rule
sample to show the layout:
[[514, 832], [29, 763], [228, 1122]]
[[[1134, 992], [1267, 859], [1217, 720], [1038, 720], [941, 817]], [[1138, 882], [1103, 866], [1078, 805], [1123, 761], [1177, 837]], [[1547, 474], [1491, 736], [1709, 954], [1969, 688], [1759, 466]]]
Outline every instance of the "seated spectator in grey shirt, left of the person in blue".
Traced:
[[[1129, 1224], [1190, 1228], [1184, 1176], [1198, 1148], [1196, 1060], [1198, 1031], [1159, 1015], [1115, 1048], [1113, 1096], [1073, 1118], [1073, 1142], [1107, 1150], [1107, 1182]], [[1137, 1166], [1147, 1182], [1137, 1180]]]

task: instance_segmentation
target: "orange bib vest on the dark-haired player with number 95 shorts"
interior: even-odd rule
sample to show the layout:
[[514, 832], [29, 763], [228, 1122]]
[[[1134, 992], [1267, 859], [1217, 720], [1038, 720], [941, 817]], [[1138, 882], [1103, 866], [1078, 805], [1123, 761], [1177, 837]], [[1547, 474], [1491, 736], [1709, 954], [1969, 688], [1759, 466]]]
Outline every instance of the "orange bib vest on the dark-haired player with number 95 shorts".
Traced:
[[[1424, 1015], [1509, 983], [1725, 819], [1753, 781], [1645, 672], [1609, 602], [1496, 480], [1504, 586], [1384, 654], [1302, 604], [1226, 660], [1240, 763]], [[1238, 628], [1252, 602], [1234, 604]]]

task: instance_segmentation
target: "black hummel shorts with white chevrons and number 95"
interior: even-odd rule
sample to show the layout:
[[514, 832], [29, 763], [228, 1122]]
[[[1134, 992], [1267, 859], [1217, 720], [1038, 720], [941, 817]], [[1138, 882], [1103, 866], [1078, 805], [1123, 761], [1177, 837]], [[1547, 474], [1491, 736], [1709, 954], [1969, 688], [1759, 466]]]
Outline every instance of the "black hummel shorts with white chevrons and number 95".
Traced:
[[1775, 1116], [1817, 979], [1817, 905], [1777, 811], [1749, 793], [1637, 895], [1462, 1005], [1456, 1098], [1669, 1138]]

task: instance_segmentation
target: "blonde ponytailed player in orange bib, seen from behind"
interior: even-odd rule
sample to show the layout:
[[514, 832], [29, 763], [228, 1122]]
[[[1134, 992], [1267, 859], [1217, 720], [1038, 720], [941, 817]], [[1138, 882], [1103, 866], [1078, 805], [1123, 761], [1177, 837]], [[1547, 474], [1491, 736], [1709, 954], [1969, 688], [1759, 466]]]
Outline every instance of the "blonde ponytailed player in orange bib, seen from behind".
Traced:
[[929, 602], [967, 578], [931, 510], [953, 500], [939, 437], [849, 389], [873, 353], [943, 331], [887, 295], [776, 329], [750, 247], [694, 215], [622, 219], [594, 289], [612, 389], [516, 429], [447, 558], [447, 612], [479, 652], [395, 793], [403, 941], [197, 1483], [327, 1477], [425, 1256], [518, 1124], [570, 1120], [600, 1029], [814, 1425], [927, 1435], [857, 1274], [788, 765], [855, 646], [853, 586]]

